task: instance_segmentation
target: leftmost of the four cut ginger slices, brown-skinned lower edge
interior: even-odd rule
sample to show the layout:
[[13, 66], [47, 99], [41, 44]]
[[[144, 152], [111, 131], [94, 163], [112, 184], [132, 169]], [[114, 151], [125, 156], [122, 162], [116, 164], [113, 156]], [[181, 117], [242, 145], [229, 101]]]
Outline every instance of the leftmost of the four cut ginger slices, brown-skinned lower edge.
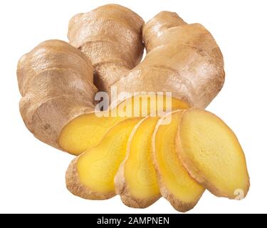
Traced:
[[114, 176], [125, 157], [127, 139], [140, 118], [123, 120], [108, 130], [101, 143], [75, 157], [66, 172], [66, 185], [85, 199], [115, 195]]

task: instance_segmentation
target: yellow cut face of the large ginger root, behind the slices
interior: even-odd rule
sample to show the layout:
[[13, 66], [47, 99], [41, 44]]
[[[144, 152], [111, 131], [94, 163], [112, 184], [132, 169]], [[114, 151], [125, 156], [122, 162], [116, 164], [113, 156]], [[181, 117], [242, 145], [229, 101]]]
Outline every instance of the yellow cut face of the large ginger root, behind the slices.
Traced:
[[127, 98], [115, 108], [102, 111], [101, 116], [90, 113], [74, 118], [61, 131], [58, 144], [63, 150], [80, 155], [83, 151], [98, 145], [105, 133], [122, 120], [145, 117], [151, 113], [162, 115], [161, 111], [185, 108], [189, 108], [187, 103], [166, 95], [137, 95]]

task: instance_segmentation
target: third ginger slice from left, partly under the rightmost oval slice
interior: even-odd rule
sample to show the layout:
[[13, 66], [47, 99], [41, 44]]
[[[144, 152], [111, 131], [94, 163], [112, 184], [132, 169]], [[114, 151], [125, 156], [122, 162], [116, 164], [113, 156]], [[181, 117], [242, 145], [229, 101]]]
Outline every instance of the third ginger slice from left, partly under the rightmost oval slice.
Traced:
[[[175, 149], [182, 112], [177, 110], [168, 113], [158, 121], [152, 137], [152, 148], [162, 197], [166, 198], [174, 209], [186, 212], [197, 204], [204, 187], [188, 174]], [[167, 118], [170, 123], [164, 124]]]

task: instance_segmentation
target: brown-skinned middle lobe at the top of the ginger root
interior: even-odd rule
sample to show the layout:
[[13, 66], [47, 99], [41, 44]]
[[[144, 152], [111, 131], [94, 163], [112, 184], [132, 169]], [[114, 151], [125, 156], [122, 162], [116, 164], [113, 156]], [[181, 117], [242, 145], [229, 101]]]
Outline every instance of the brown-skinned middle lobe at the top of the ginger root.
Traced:
[[142, 59], [144, 21], [124, 6], [108, 4], [70, 20], [70, 44], [90, 57], [95, 86], [109, 91]]

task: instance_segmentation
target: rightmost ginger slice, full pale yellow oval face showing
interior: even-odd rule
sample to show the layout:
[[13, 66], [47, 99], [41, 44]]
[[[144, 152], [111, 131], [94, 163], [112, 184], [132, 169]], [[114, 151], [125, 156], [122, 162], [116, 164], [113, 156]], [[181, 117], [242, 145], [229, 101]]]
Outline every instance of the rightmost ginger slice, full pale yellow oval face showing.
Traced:
[[244, 152], [234, 132], [216, 115], [184, 111], [177, 152], [197, 182], [218, 197], [242, 199], [249, 188]]

